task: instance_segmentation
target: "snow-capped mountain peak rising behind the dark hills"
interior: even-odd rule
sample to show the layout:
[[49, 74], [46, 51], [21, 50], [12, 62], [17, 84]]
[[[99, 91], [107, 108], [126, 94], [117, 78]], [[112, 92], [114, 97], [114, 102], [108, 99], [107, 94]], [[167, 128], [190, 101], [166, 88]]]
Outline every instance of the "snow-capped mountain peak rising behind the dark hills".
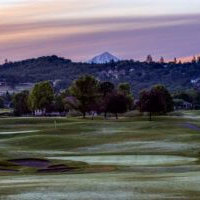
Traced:
[[88, 63], [95, 63], [95, 64], [104, 64], [104, 63], [110, 63], [111, 61], [118, 62], [120, 59], [116, 56], [113, 56], [112, 54], [105, 52], [103, 54], [100, 54], [98, 56], [95, 56], [91, 60], [88, 61]]

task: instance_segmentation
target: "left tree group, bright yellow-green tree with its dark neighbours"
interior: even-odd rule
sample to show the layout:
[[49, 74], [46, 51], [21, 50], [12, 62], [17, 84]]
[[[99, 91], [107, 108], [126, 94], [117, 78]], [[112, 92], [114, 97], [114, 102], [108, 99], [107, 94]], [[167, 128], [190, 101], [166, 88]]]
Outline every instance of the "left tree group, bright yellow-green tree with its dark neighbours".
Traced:
[[35, 84], [31, 92], [22, 91], [13, 96], [14, 114], [17, 116], [34, 114], [41, 111], [42, 115], [47, 112], [63, 112], [65, 110], [63, 99], [54, 94], [54, 89], [49, 81]]

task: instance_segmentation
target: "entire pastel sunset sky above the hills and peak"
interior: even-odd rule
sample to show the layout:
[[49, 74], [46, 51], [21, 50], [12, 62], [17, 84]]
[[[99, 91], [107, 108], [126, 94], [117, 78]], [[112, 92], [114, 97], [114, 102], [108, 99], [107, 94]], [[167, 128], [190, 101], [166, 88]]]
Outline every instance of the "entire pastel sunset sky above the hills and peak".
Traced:
[[200, 54], [199, 0], [0, 0], [0, 63]]

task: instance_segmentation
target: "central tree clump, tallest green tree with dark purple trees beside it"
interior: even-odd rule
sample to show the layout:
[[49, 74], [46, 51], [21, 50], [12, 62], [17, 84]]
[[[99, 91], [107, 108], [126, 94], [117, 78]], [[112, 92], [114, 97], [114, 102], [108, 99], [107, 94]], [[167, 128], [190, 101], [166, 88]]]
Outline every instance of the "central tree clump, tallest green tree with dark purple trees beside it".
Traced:
[[75, 80], [69, 93], [78, 100], [77, 107], [85, 117], [87, 112], [115, 114], [131, 109], [133, 96], [128, 83], [119, 84], [117, 88], [111, 82], [99, 82], [92, 76], [82, 76]]

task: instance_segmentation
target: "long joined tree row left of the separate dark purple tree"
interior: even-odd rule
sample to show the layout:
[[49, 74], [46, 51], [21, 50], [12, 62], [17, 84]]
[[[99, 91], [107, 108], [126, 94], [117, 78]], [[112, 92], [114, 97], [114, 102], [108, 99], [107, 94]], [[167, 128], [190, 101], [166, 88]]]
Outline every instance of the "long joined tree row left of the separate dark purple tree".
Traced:
[[93, 76], [82, 76], [62, 93], [56, 94], [48, 81], [35, 84], [31, 92], [23, 91], [14, 95], [13, 106], [15, 115], [31, 114], [41, 111], [66, 112], [78, 110], [83, 117], [86, 113], [115, 114], [126, 112], [133, 105], [131, 88], [122, 83], [117, 88], [110, 82], [99, 82]]

